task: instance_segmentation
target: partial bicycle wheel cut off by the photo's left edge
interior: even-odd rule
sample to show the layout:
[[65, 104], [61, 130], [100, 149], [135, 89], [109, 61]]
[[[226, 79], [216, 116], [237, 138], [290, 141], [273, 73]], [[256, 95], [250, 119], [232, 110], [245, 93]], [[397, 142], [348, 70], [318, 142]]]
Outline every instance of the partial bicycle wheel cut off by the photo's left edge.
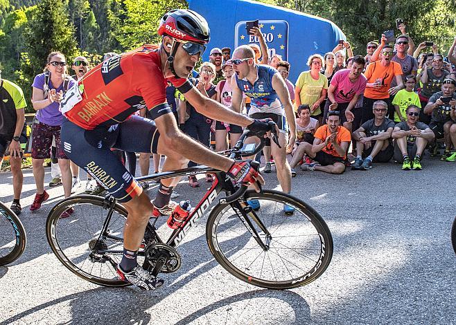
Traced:
[[26, 245], [24, 225], [14, 212], [0, 202], [0, 266], [19, 259]]

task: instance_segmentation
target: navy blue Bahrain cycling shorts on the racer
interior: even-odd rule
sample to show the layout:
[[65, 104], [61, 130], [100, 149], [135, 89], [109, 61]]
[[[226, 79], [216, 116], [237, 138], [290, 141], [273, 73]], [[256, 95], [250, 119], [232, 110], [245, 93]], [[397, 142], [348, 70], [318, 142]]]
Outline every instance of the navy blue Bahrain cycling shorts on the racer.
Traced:
[[141, 194], [142, 188], [111, 148], [157, 154], [158, 140], [155, 122], [138, 115], [111, 127], [93, 130], [82, 129], [66, 118], [62, 123], [65, 154], [119, 202], [130, 201]]

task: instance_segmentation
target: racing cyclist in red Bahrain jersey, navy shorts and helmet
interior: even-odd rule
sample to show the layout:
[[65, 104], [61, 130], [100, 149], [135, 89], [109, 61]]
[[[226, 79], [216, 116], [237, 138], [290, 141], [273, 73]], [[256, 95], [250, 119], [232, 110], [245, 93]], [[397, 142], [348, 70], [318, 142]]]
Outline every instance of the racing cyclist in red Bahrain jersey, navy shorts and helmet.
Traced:
[[[152, 277], [137, 263], [146, 225], [152, 216], [169, 215], [170, 195], [179, 178], [161, 180], [155, 200], [150, 201], [109, 149], [163, 154], [163, 171], [186, 167], [188, 160], [209, 165], [236, 183], [264, 183], [251, 160], [234, 161], [220, 156], [179, 131], [166, 102], [166, 82], [184, 94], [197, 111], [214, 120], [248, 127], [256, 134], [268, 131], [268, 124], [247, 118], [203, 96], [188, 82], [200, 55], [209, 42], [207, 21], [192, 10], [171, 10], [161, 18], [159, 46], [141, 46], [108, 59], [91, 69], [73, 86], [61, 104], [65, 119], [62, 143], [65, 153], [84, 168], [128, 211], [124, 246], [117, 272], [124, 281], [152, 290], [164, 281]], [[134, 111], [147, 107], [148, 120]]]

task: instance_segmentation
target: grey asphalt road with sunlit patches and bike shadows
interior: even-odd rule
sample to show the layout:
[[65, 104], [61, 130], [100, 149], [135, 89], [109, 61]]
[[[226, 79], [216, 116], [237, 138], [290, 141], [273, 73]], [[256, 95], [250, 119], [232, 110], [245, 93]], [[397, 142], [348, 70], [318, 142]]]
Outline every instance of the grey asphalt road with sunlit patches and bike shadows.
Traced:
[[[205, 241], [207, 215], [179, 246], [183, 266], [164, 275], [163, 288], [90, 284], [64, 268], [46, 241], [46, 216], [62, 187], [49, 189], [51, 199], [32, 214], [35, 185], [26, 170], [21, 221], [28, 245], [15, 263], [0, 267], [0, 324], [456, 324], [450, 245], [456, 165], [435, 158], [422, 165], [423, 171], [388, 163], [293, 178], [292, 194], [328, 223], [334, 254], [319, 279], [286, 291], [249, 286], [220, 267]], [[273, 167], [268, 187], [277, 185], [275, 177]], [[8, 205], [11, 183], [10, 173], [0, 174], [1, 201]], [[182, 183], [177, 192], [193, 197], [205, 188]]]

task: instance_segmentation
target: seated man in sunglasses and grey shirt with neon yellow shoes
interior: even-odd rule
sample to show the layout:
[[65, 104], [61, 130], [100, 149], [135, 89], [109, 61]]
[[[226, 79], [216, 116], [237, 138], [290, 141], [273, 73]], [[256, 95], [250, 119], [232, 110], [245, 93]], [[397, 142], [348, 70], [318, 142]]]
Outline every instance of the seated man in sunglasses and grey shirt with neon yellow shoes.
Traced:
[[428, 125], [418, 122], [419, 107], [407, 107], [407, 121], [396, 124], [393, 129], [394, 160], [402, 163], [403, 170], [421, 170], [421, 156], [435, 136]]

